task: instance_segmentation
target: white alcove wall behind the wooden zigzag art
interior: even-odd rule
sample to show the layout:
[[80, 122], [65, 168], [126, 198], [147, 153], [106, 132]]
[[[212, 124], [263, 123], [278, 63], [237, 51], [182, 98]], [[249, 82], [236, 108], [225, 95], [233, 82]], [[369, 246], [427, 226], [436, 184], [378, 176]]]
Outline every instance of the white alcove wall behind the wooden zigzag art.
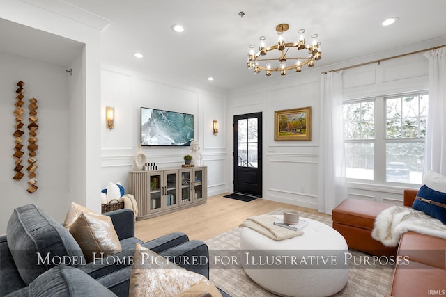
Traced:
[[[68, 75], [65, 67], [52, 65], [0, 51], [0, 234], [6, 233], [6, 224], [15, 207], [35, 203], [43, 207], [56, 220], [62, 221], [68, 209]], [[15, 137], [16, 83], [24, 81], [22, 122], [25, 132], [22, 136], [22, 172], [26, 175], [20, 181], [13, 179], [15, 159], [13, 158]], [[28, 180], [28, 117], [29, 99], [38, 100], [38, 154], [36, 171], [38, 191], [26, 191]]]

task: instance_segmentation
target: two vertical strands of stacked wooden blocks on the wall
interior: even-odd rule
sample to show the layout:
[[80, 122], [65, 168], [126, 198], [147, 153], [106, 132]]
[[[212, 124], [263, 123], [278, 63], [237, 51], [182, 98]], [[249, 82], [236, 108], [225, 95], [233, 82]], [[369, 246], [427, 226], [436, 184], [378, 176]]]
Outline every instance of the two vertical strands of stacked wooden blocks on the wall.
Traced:
[[[24, 173], [22, 172], [23, 169], [23, 165], [22, 165], [22, 156], [24, 155], [24, 152], [22, 151], [23, 148], [23, 144], [22, 144], [22, 136], [24, 134], [24, 131], [22, 130], [22, 127], [24, 126], [24, 123], [22, 122], [23, 120], [23, 114], [24, 114], [24, 109], [22, 109], [22, 106], [24, 105], [24, 82], [23, 81], [19, 81], [17, 83], [17, 86], [19, 86], [19, 88], [17, 88], [17, 90], [15, 91], [15, 93], [17, 93], [17, 96], [15, 97], [17, 99], [17, 101], [15, 102], [15, 110], [14, 110], [14, 115], [15, 115], [15, 131], [13, 133], [13, 136], [15, 136], [15, 147], [14, 147], [14, 154], [13, 157], [15, 159], [15, 175], [13, 177], [13, 179], [15, 180], [20, 180], [22, 179], [22, 177], [24, 177]], [[36, 98], [31, 98], [29, 99], [29, 125], [28, 125], [28, 130], [29, 130], [29, 138], [28, 138], [28, 151], [29, 151], [29, 159], [28, 159], [28, 167], [26, 168], [26, 171], [28, 171], [28, 177], [29, 177], [29, 187], [26, 189], [26, 191], [28, 191], [29, 193], [34, 193], [37, 191], [38, 186], [36, 185], [37, 179], [36, 179], [36, 170], [37, 170], [37, 159], [35, 158], [35, 156], [37, 155], [37, 150], [38, 150], [38, 145], [37, 145], [37, 129], [39, 128], [38, 125], [38, 118], [37, 118], [37, 109], [38, 109], [38, 105], [37, 105], [37, 99]]]

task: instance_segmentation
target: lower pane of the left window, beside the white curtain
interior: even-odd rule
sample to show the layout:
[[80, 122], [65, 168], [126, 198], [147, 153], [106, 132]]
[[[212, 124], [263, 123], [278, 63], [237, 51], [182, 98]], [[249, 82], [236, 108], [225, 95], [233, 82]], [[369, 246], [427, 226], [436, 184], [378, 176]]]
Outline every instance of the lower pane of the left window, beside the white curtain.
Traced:
[[374, 179], [374, 144], [346, 143], [347, 178]]

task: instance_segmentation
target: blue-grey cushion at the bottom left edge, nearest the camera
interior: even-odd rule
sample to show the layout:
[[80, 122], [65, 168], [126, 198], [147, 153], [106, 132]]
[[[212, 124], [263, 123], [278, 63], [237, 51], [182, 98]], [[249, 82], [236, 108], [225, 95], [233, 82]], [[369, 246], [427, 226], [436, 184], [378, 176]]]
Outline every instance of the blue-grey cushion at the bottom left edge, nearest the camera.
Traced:
[[9, 294], [13, 296], [116, 296], [88, 274], [70, 266], [56, 266], [33, 280], [28, 287]]

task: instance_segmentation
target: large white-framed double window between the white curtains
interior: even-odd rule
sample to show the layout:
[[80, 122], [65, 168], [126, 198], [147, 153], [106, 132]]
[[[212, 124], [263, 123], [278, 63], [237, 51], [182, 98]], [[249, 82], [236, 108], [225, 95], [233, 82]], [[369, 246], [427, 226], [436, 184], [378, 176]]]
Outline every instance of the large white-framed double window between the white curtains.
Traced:
[[419, 93], [345, 102], [347, 177], [421, 184], [428, 98]]

